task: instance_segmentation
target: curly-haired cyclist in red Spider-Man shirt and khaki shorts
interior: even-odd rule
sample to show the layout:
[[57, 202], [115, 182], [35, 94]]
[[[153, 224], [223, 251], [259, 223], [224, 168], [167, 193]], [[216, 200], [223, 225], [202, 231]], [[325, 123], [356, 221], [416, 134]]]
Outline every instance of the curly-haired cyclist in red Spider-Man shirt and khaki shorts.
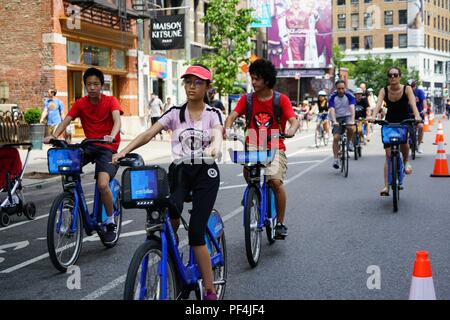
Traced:
[[[249, 122], [249, 130], [246, 141], [249, 148], [275, 149], [275, 157], [272, 163], [266, 167], [267, 180], [275, 193], [277, 208], [277, 225], [275, 227], [275, 237], [284, 238], [287, 236], [287, 227], [284, 225], [284, 215], [286, 210], [286, 190], [283, 180], [287, 171], [286, 146], [283, 139], [271, 139], [267, 142], [267, 137], [285, 132], [286, 137], [295, 135], [299, 127], [294, 109], [289, 98], [281, 94], [281, 123], [278, 123], [274, 111], [274, 86], [276, 83], [277, 71], [272, 62], [265, 59], [258, 59], [250, 65], [250, 76], [254, 93], [252, 95], [252, 115]], [[246, 114], [246, 96], [243, 95], [234, 111], [225, 121], [225, 137], [233, 122], [241, 115]], [[286, 131], [286, 122], [289, 122], [289, 130]], [[248, 172], [244, 168], [244, 176], [247, 180]]]

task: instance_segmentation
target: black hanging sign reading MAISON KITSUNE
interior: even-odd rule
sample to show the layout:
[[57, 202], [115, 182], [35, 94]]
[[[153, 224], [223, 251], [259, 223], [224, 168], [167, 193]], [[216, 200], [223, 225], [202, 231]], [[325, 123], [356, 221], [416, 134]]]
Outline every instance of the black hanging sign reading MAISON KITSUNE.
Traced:
[[184, 49], [184, 15], [155, 17], [150, 22], [152, 50]]

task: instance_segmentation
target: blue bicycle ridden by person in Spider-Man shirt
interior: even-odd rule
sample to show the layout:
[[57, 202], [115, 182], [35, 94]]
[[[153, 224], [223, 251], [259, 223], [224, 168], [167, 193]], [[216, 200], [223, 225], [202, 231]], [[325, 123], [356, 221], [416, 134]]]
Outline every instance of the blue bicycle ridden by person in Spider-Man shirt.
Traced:
[[[284, 135], [272, 135], [268, 139]], [[246, 146], [244, 137], [230, 135], [230, 140], [238, 140]], [[275, 194], [270, 188], [266, 176], [261, 181], [263, 168], [273, 161], [274, 150], [263, 151], [234, 151], [229, 150], [231, 160], [234, 163], [244, 165], [249, 172], [248, 186], [244, 191], [244, 234], [245, 251], [248, 263], [252, 268], [256, 267], [261, 254], [261, 232], [266, 229], [267, 240], [273, 244], [275, 238], [275, 226], [277, 224], [277, 212], [275, 206]]]

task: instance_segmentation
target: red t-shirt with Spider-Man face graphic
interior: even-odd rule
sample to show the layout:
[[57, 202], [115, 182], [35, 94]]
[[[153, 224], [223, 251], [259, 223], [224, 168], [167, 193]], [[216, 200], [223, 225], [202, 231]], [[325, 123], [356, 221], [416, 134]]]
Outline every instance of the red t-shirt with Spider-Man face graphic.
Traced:
[[[247, 136], [247, 142], [253, 145], [258, 145], [264, 147], [266, 145], [267, 136], [269, 134], [275, 134], [280, 131], [279, 124], [275, 115], [273, 113], [273, 97], [267, 101], [260, 101], [256, 94], [253, 94], [253, 109], [252, 109], [252, 119], [250, 121], [249, 129], [253, 129], [256, 132], [256, 137], [254, 134]], [[234, 112], [238, 113], [240, 116], [246, 115], [246, 95], [243, 95], [234, 109]], [[290, 118], [295, 118], [294, 109], [292, 109], [292, 104], [289, 98], [281, 94], [280, 97], [280, 108], [281, 108], [281, 131], [285, 132], [286, 122]], [[269, 130], [269, 132], [267, 132]], [[275, 131], [274, 131], [275, 130]], [[260, 139], [260, 135], [262, 138]], [[272, 147], [272, 143], [277, 143], [278, 139], [273, 139], [269, 141], [267, 148]], [[280, 150], [285, 151], [286, 146], [284, 145], [283, 139], [279, 142]]]

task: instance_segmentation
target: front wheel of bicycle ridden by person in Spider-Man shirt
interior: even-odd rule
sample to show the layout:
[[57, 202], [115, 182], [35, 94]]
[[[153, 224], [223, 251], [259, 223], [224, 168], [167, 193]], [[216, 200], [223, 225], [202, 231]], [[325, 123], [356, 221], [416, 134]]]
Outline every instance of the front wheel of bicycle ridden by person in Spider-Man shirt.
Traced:
[[261, 231], [258, 228], [259, 217], [259, 196], [257, 189], [251, 187], [248, 190], [247, 201], [244, 207], [244, 233], [247, 260], [252, 268], [258, 264], [261, 253]]

